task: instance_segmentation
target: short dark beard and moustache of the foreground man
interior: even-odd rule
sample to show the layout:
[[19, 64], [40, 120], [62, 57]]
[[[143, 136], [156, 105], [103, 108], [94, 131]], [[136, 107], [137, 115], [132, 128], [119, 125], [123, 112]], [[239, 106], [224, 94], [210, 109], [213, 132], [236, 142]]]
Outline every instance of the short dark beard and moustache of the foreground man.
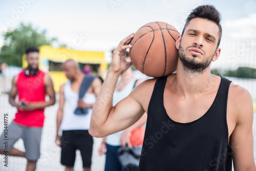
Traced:
[[[200, 49], [200, 47], [198, 47], [197, 45], [195, 46], [189, 46], [187, 47], [185, 50], [180, 46], [179, 47], [179, 58], [181, 60], [183, 69], [189, 73], [193, 73], [193, 74], [201, 74], [205, 71], [205, 69], [210, 65], [212, 58], [214, 58], [214, 54], [213, 55], [209, 55], [207, 56], [203, 61], [196, 61], [196, 57], [197, 55], [193, 54], [193, 58], [189, 58], [185, 55], [185, 52], [189, 49], [189, 48], [198, 48]], [[203, 50], [202, 50], [203, 51]], [[203, 53], [205, 54], [205, 52], [203, 51]]]

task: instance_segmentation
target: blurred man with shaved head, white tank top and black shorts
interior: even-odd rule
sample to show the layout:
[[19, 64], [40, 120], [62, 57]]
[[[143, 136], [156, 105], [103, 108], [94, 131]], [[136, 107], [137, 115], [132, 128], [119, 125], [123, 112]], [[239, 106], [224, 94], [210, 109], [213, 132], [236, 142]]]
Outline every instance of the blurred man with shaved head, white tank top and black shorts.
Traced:
[[[61, 164], [66, 171], [73, 170], [76, 149], [79, 149], [83, 170], [91, 170], [93, 137], [88, 133], [92, 108], [102, 86], [99, 78], [94, 78], [83, 98], [79, 99], [79, 89], [84, 78], [78, 64], [69, 59], [63, 63], [63, 72], [68, 81], [60, 87], [59, 109], [57, 113], [56, 144], [61, 146]], [[87, 108], [87, 114], [75, 114], [77, 108]], [[62, 136], [59, 131], [62, 130]], [[62, 143], [61, 143], [62, 142]]]

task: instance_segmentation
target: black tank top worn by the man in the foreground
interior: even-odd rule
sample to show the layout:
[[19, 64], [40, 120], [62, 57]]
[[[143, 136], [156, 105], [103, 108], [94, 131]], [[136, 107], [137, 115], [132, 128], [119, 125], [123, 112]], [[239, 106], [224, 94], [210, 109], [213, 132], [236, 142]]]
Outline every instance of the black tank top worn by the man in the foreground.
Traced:
[[166, 79], [157, 79], [148, 105], [139, 170], [231, 171], [226, 119], [231, 81], [221, 77], [215, 100], [201, 118], [179, 123], [169, 118], [163, 105]]

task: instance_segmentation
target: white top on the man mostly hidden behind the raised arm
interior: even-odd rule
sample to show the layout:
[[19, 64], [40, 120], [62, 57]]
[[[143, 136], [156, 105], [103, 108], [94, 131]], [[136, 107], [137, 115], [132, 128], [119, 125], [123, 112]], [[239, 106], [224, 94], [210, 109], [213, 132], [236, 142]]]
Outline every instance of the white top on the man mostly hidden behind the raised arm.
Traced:
[[[134, 77], [127, 85], [120, 91], [115, 91], [113, 94], [113, 106], [116, 105], [119, 101], [127, 97], [133, 90], [135, 81], [137, 80]], [[119, 146], [120, 145], [120, 137], [123, 131], [120, 131], [115, 134], [111, 134], [106, 137], [106, 143], [112, 146]]]

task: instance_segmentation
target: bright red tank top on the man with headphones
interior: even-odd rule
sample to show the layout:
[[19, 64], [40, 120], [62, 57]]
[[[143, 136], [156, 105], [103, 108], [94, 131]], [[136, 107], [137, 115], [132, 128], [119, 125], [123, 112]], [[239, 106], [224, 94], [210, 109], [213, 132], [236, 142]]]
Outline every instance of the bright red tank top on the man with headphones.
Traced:
[[[39, 70], [37, 75], [26, 76], [24, 71], [18, 74], [17, 92], [18, 100], [25, 103], [45, 101], [45, 72]], [[44, 109], [34, 111], [17, 110], [13, 121], [24, 126], [42, 127], [44, 125]]]

